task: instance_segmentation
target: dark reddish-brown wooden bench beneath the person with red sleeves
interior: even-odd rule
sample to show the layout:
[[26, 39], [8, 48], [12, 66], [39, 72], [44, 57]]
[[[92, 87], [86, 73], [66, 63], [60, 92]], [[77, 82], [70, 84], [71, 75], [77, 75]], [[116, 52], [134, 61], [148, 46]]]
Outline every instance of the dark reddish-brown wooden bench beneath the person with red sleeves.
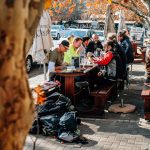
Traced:
[[113, 98], [114, 94], [116, 94], [116, 90], [116, 83], [112, 83], [91, 91], [90, 95], [93, 97], [94, 100], [94, 105], [92, 108], [93, 113], [104, 113], [105, 103], [108, 99]]

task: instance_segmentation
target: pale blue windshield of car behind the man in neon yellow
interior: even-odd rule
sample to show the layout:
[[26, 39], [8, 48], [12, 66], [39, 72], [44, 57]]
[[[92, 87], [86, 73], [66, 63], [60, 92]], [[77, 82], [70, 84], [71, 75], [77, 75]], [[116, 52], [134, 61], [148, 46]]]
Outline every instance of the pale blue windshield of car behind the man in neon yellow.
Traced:
[[69, 30], [68, 32], [65, 33], [64, 38], [68, 38], [71, 35], [83, 38], [84, 36], [86, 36], [86, 31], [82, 31], [82, 30]]

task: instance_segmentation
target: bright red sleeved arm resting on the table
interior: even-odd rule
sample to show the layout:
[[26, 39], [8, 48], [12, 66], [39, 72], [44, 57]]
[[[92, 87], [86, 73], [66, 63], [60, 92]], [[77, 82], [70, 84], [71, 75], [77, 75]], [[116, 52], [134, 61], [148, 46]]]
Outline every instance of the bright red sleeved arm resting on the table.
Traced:
[[113, 58], [112, 52], [107, 52], [104, 55], [104, 57], [99, 57], [98, 60], [93, 58], [93, 60], [94, 60], [94, 63], [98, 65], [106, 66], [111, 62], [112, 58]]

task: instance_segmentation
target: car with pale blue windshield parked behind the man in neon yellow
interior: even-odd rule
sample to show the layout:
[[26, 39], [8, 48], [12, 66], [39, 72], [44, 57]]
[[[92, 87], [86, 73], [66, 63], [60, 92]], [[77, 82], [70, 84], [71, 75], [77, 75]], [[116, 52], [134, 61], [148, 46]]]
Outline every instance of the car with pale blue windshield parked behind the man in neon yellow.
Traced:
[[90, 29], [71, 29], [65, 32], [63, 39], [67, 39], [69, 36], [74, 35], [76, 37], [83, 38], [84, 36], [92, 37], [92, 34], [94, 34], [94, 30]]

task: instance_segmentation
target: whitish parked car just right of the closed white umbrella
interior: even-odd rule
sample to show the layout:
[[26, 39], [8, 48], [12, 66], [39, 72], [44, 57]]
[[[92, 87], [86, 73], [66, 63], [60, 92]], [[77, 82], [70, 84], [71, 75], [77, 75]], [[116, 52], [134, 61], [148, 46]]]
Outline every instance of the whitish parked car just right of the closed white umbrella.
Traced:
[[51, 26], [51, 36], [54, 39], [59, 40], [64, 34], [65, 27], [63, 25], [52, 25]]

